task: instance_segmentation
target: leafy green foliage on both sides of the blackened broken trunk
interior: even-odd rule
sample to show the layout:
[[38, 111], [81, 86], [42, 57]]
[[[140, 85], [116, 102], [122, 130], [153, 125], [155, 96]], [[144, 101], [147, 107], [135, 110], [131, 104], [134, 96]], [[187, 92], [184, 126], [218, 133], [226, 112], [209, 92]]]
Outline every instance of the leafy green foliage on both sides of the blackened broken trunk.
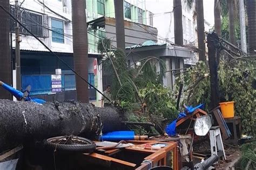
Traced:
[[[219, 90], [221, 101], [235, 101], [235, 115], [242, 119], [242, 131], [247, 134], [255, 134], [255, 90], [252, 82], [255, 80], [255, 60], [233, 60], [232, 64], [221, 61], [218, 68]], [[180, 83], [184, 84], [183, 103], [187, 104], [186, 98], [192, 91], [189, 99], [192, 105], [206, 104], [206, 110], [210, 109], [211, 91], [210, 77], [201, 80], [194, 89], [194, 82], [208, 73], [207, 63], [199, 62], [196, 66], [181, 73], [176, 81], [176, 89]]]

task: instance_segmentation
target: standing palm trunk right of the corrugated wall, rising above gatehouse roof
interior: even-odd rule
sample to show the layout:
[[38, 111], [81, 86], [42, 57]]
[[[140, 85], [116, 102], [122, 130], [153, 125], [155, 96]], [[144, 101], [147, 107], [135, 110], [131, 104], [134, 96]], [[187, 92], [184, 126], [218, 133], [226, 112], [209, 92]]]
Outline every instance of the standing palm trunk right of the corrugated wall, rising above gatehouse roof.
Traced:
[[174, 16], [174, 42], [177, 45], [183, 45], [181, 0], [173, 1], [173, 16]]

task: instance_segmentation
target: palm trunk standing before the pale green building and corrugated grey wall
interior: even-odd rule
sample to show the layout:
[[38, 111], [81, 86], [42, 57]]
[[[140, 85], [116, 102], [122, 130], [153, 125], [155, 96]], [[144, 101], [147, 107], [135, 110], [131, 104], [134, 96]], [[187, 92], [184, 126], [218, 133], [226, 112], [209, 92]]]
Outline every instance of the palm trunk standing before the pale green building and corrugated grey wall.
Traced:
[[114, 14], [116, 16], [117, 48], [125, 51], [124, 1], [123, 0], [114, 0]]

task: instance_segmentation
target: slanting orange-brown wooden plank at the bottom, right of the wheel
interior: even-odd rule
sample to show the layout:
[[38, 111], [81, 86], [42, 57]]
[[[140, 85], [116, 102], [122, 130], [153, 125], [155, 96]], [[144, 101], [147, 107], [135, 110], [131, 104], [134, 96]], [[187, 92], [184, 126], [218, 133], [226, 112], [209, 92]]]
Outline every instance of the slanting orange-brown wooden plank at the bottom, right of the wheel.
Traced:
[[121, 166], [124, 166], [124, 167], [127, 167], [127, 168], [134, 168], [134, 167], [136, 167], [136, 164], [133, 164], [131, 162], [127, 162], [127, 161], [123, 161], [123, 160], [107, 157], [105, 155], [98, 154], [98, 153], [91, 153], [91, 154], [84, 153], [84, 155], [85, 155], [85, 157], [90, 157], [90, 158], [96, 159], [98, 161], [101, 161], [101, 160], [102, 161], [107, 161], [110, 164], [114, 163], [114, 164], [121, 165]]

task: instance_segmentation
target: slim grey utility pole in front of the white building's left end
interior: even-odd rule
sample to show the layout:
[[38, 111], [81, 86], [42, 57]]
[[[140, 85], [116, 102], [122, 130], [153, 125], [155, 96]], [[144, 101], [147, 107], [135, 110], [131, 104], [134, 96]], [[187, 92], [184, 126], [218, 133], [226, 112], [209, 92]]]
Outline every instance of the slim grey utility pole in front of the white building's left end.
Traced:
[[[16, 18], [19, 20], [19, 1], [15, 0]], [[19, 24], [15, 26], [15, 57], [16, 57], [16, 89], [21, 90], [21, 51], [19, 43], [21, 43], [21, 35], [19, 33]]]

